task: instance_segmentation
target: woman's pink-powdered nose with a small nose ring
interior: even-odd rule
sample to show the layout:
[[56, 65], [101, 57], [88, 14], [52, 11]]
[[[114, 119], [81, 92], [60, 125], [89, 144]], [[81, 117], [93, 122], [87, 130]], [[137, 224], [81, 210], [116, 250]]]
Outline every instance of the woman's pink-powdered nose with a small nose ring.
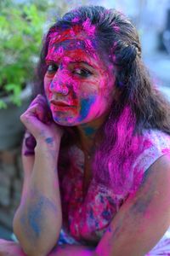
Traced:
[[56, 73], [49, 86], [49, 90], [67, 96], [69, 94], [68, 82], [65, 74]]

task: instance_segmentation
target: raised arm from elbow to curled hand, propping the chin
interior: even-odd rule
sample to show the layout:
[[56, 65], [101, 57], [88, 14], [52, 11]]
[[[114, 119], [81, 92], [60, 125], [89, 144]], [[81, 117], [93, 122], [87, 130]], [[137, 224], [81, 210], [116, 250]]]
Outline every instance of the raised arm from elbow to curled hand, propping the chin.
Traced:
[[48, 254], [58, 240], [62, 223], [56, 168], [62, 132], [54, 123], [44, 125], [40, 122], [41, 117], [37, 119], [43, 109], [39, 104], [34, 102], [22, 117], [36, 138], [37, 146], [30, 174], [29, 164], [26, 165], [25, 189], [14, 216], [14, 233], [26, 254], [32, 256]]

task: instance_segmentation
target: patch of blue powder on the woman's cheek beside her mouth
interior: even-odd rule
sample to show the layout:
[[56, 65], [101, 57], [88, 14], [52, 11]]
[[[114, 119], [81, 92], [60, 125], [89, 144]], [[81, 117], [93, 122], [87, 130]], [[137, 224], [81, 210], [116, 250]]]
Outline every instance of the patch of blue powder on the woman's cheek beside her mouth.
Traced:
[[91, 96], [88, 99], [82, 99], [80, 117], [78, 118], [78, 121], [82, 121], [82, 119], [85, 119], [88, 116], [89, 110], [94, 102], [95, 96]]

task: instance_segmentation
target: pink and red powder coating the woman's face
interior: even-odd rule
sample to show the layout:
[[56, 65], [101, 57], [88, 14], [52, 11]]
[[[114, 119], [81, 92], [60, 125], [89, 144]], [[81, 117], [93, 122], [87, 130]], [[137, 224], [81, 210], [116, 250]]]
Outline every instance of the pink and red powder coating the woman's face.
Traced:
[[[84, 27], [88, 30], [91, 27], [89, 20], [86, 20]], [[93, 31], [93, 30], [92, 30]], [[91, 31], [91, 32], [92, 32]], [[51, 106], [55, 121], [64, 120], [67, 124], [73, 124], [75, 121], [81, 120], [81, 122], [87, 117], [87, 119], [94, 119], [98, 117], [100, 113], [107, 111], [109, 93], [111, 92], [111, 78], [109, 79], [108, 67], [100, 59], [98, 52], [95, 49], [95, 42], [88, 38], [91, 32], [83, 32], [82, 26], [73, 26], [64, 32], [60, 32], [56, 38], [52, 38], [50, 41], [50, 47], [48, 48], [48, 55], [46, 61], [49, 65], [55, 63], [56, 71], [54, 74], [47, 77], [45, 82], [46, 92], [48, 92], [48, 101], [56, 96], [61, 101], [65, 101], [67, 104], [74, 105], [75, 108]], [[63, 43], [63, 44], [62, 44]], [[94, 43], [94, 44], [93, 44]], [[93, 66], [94, 71], [90, 66], [83, 67], [80, 64], [80, 68], [86, 68], [91, 70], [91, 75], [87, 78], [81, 77], [76, 73], [78, 67], [78, 61], [86, 61], [90, 66]], [[76, 64], [72, 64], [76, 62]], [[105, 67], [105, 68], [104, 68]], [[109, 67], [109, 70], [111, 68]], [[98, 75], [94, 75], [94, 73]], [[76, 75], [75, 75], [76, 74]], [[112, 73], [111, 73], [112, 77]], [[113, 83], [112, 83], [113, 84]], [[102, 89], [102, 90], [101, 90]], [[64, 95], [64, 91], [67, 93]], [[88, 108], [87, 100], [91, 97], [97, 96], [98, 100], [92, 102], [90, 108]], [[102, 98], [101, 98], [102, 96]], [[110, 96], [110, 102], [112, 97]], [[77, 100], [77, 104], [72, 104], [74, 99]], [[84, 101], [86, 100], [86, 104]], [[83, 104], [81, 103], [83, 102]], [[83, 106], [82, 106], [83, 105]], [[83, 107], [83, 109], [82, 109]], [[87, 110], [88, 109], [88, 113]], [[68, 113], [68, 114], [67, 114]], [[78, 114], [80, 113], [80, 117]], [[85, 114], [86, 113], [86, 114]], [[83, 118], [82, 118], [83, 117]], [[66, 123], [65, 123], [66, 124]]]

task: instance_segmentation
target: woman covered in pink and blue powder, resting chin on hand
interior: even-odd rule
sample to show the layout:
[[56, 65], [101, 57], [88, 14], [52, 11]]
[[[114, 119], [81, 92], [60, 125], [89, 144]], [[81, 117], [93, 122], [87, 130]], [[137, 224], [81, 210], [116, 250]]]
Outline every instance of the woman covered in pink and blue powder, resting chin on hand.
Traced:
[[2, 252], [170, 255], [170, 108], [132, 23], [103, 7], [72, 10], [49, 29], [37, 73], [21, 116], [20, 246], [2, 241]]

